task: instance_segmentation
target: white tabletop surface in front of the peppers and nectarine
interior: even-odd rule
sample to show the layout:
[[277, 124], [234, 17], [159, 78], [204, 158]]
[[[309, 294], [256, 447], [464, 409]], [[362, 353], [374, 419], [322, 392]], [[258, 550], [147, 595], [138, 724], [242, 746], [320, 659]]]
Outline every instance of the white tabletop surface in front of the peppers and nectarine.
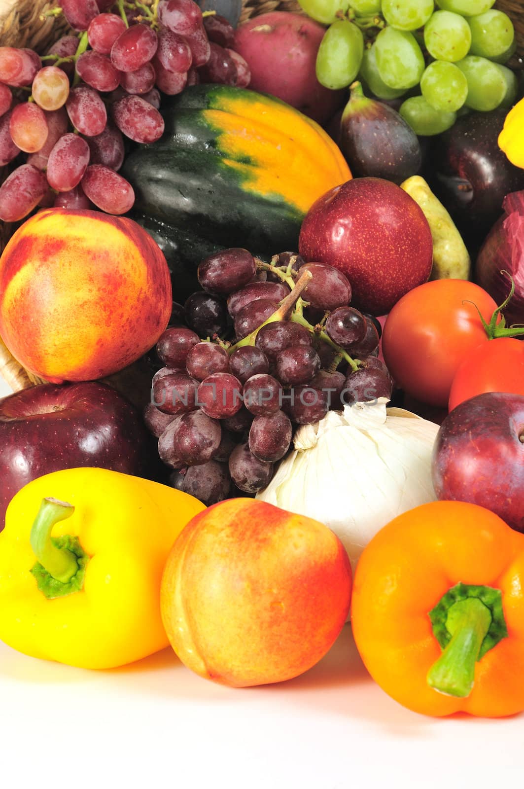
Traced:
[[2, 787], [498, 789], [524, 784], [524, 716], [432, 719], [367, 675], [346, 625], [305, 675], [230, 689], [170, 649], [114, 671], [0, 645]]

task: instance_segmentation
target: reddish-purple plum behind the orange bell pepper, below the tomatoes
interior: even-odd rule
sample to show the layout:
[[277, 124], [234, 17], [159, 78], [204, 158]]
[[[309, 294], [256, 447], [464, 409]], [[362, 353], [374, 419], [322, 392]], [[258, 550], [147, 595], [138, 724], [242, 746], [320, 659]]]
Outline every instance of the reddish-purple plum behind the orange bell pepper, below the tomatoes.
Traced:
[[439, 499], [468, 501], [524, 532], [524, 397], [489, 392], [460, 403], [436, 436]]

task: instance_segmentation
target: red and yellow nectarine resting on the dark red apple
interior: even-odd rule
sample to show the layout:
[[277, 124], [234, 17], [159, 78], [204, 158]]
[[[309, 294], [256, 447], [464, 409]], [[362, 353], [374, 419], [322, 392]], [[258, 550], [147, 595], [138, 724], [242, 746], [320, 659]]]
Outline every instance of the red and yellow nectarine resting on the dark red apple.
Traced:
[[132, 219], [50, 208], [0, 258], [0, 335], [53, 383], [118, 372], [155, 345], [172, 308], [159, 246]]

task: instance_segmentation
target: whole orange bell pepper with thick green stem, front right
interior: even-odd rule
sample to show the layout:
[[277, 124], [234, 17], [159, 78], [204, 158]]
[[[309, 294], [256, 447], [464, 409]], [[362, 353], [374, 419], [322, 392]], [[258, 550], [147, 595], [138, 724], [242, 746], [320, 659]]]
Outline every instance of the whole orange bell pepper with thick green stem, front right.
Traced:
[[524, 535], [475, 504], [439, 501], [373, 537], [352, 623], [372, 678], [425, 715], [524, 710]]

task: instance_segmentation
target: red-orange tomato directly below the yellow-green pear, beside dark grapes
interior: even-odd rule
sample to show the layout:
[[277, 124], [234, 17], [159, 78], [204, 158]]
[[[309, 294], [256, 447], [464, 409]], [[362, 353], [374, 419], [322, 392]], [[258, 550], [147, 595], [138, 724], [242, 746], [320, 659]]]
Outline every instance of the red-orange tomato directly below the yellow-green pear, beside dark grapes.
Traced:
[[398, 387], [430, 406], [447, 407], [458, 367], [489, 342], [476, 308], [489, 323], [496, 303], [465, 279], [436, 279], [410, 290], [387, 316], [382, 352]]

